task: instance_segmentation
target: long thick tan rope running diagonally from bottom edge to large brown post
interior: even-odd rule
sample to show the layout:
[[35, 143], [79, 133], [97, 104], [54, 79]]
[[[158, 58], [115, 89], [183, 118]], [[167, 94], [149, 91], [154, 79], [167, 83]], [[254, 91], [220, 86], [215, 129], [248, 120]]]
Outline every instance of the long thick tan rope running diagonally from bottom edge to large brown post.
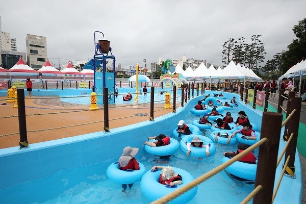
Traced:
[[193, 187], [201, 184], [202, 182], [208, 180], [210, 177], [214, 176], [215, 174], [219, 173], [220, 171], [222, 171], [223, 169], [225, 169], [226, 167], [230, 166], [231, 164], [233, 164], [234, 162], [240, 160], [242, 157], [246, 156], [249, 152], [251, 152], [252, 150], [254, 150], [255, 148], [259, 147], [260, 145], [262, 145], [263, 143], [267, 142], [268, 139], [262, 138], [261, 140], [259, 140], [258, 142], [256, 142], [255, 144], [253, 144], [252, 146], [248, 147], [247, 149], [243, 150], [241, 153], [239, 153], [238, 155], [236, 155], [235, 157], [233, 157], [232, 159], [228, 160], [227, 162], [217, 166], [216, 168], [212, 169], [211, 171], [199, 176], [197, 179], [193, 180], [192, 182], [186, 184], [184, 187], [179, 188], [161, 198], [159, 198], [156, 201], [151, 202], [152, 204], [158, 204], [158, 203], [167, 203], [170, 200], [173, 200], [174, 198], [180, 196], [181, 194], [185, 193], [186, 191], [192, 189]]

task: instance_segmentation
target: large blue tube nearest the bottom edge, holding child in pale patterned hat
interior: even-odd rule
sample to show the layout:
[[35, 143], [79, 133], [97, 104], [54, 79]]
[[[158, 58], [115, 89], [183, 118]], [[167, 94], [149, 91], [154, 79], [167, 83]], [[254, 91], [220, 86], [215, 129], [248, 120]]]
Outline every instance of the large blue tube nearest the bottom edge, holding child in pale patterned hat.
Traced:
[[[194, 180], [194, 177], [189, 172], [183, 169], [173, 167], [173, 170], [175, 173], [178, 173], [182, 176], [183, 184], [176, 186], [176, 188], [166, 188], [165, 185], [158, 182], [161, 170], [155, 172], [147, 171], [143, 175], [140, 183], [140, 188], [143, 194], [150, 201], [157, 200], [169, 193], [172, 193], [173, 191], [186, 186]], [[193, 197], [196, 195], [196, 192], [197, 186], [180, 195], [179, 197], [176, 197], [175, 199], [169, 201], [168, 203], [187, 203], [193, 199]]]

